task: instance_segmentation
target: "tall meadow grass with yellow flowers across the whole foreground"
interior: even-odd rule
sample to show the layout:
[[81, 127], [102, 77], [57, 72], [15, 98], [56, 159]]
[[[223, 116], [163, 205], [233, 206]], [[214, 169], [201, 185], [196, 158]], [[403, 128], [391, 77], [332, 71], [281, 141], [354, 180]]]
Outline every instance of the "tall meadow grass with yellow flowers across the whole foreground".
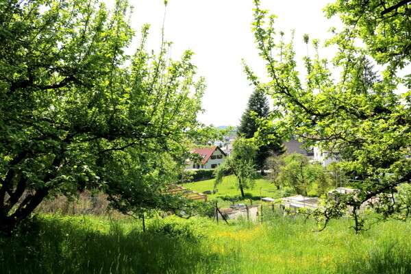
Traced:
[[349, 221], [314, 222], [266, 210], [264, 221], [147, 222], [40, 216], [0, 238], [0, 273], [411, 273], [409, 223], [356, 235]]

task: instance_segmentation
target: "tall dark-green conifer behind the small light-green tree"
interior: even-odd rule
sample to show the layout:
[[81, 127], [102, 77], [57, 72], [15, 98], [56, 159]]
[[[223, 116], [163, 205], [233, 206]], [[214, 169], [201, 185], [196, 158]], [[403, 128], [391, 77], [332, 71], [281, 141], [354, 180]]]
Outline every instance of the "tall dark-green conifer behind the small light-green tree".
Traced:
[[[238, 126], [238, 135], [242, 138], [253, 138], [258, 132], [259, 119], [266, 119], [270, 115], [269, 100], [262, 90], [254, 90], [249, 97], [247, 108], [241, 116], [240, 125]], [[260, 145], [256, 155], [256, 167], [264, 174], [264, 164], [271, 153], [281, 155], [284, 153], [284, 147], [281, 140], [271, 140], [269, 144]]]

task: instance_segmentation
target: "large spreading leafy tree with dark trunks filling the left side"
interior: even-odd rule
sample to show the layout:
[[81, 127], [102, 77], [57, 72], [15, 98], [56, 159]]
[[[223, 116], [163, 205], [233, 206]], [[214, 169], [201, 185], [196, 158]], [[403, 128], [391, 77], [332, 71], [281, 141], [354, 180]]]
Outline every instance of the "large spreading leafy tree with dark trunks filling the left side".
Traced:
[[197, 132], [202, 79], [181, 60], [144, 45], [127, 1], [0, 4], [0, 232], [10, 234], [43, 199], [99, 188], [127, 214], [190, 210], [164, 195]]

